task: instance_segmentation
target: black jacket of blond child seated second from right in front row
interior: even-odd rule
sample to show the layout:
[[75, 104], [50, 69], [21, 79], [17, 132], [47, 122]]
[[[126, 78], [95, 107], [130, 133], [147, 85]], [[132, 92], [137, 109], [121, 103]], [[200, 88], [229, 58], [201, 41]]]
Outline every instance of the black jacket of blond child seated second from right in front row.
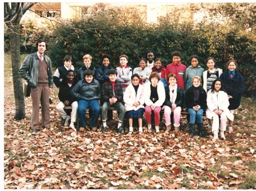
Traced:
[[200, 85], [199, 86], [199, 101], [198, 103], [194, 103], [194, 86], [192, 85], [190, 88], [187, 89], [187, 92], [185, 94], [185, 102], [187, 105], [187, 108], [193, 108], [196, 105], [200, 105], [201, 109], [204, 111], [206, 110], [207, 103], [206, 103], [206, 98], [207, 94], [204, 88]]

